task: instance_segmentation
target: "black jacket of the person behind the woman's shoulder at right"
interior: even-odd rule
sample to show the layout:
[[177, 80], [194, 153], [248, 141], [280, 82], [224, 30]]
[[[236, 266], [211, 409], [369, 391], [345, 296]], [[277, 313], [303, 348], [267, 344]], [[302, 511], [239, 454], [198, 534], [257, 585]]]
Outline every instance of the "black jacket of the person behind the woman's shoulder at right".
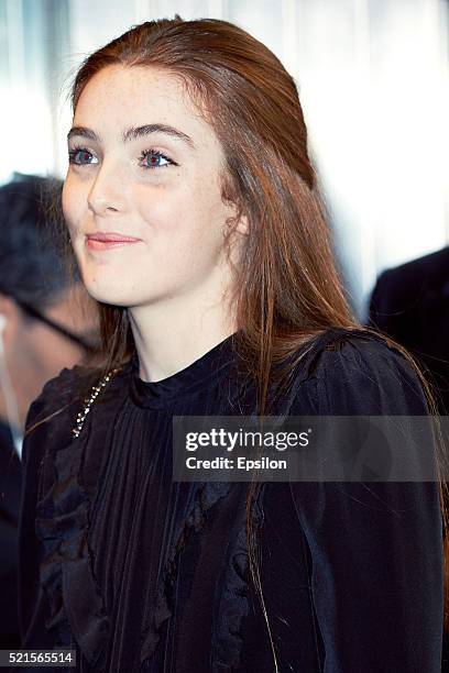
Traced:
[[427, 369], [439, 411], [449, 415], [449, 246], [381, 274], [369, 313]]

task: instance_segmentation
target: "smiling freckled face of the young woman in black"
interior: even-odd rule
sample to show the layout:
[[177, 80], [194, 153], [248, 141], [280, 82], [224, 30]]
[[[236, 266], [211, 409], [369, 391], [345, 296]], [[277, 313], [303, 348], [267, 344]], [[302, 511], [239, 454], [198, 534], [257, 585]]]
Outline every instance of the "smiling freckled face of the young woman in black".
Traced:
[[222, 148], [174, 76], [102, 69], [79, 98], [68, 152], [63, 209], [95, 299], [132, 308], [227, 284]]

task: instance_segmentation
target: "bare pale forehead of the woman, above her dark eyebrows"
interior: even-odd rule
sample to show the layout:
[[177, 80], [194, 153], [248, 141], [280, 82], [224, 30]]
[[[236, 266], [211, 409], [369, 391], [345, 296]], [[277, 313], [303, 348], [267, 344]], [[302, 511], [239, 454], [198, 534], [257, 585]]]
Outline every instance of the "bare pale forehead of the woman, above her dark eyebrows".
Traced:
[[188, 90], [175, 75], [149, 66], [107, 66], [83, 90], [74, 125], [101, 135], [119, 134], [129, 126], [164, 123], [178, 128], [201, 144], [217, 144]]

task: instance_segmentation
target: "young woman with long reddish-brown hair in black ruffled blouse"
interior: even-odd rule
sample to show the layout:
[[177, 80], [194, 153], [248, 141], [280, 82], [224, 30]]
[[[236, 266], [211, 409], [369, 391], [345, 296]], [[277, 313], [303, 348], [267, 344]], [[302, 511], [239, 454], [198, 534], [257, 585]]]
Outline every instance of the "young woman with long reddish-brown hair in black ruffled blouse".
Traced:
[[437, 673], [437, 483], [172, 479], [174, 416], [429, 411], [350, 316], [293, 79], [176, 16], [92, 54], [73, 107], [63, 208], [105, 367], [29, 412], [23, 648], [95, 673]]

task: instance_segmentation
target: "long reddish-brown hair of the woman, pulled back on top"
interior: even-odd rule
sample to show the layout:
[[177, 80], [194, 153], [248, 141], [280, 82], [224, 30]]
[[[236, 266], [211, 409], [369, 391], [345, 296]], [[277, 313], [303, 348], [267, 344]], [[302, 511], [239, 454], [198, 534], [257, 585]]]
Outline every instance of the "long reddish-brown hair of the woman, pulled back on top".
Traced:
[[[275, 364], [304, 354], [303, 346], [328, 328], [360, 329], [336, 268], [295, 81], [278, 58], [242, 29], [213, 19], [183, 21], [176, 14], [136, 25], [91, 54], [74, 81], [74, 111], [88, 81], [111, 65], [153, 66], [179, 78], [222, 145], [222, 198], [238, 207], [229, 234], [242, 213], [250, 228], [233, 267], [237, 350], [256, 384], [258, 409], [264, 416]], [[105, 368], [120, 366], [134, 349], [127, 310], [99, 305], [99, 315]], [[407, 357], [435, 412], [412, 356], [385, 341]], [[264, 606], [251, 528], [258, 488], [252, 483], [248, 497], [248, 540]]]

